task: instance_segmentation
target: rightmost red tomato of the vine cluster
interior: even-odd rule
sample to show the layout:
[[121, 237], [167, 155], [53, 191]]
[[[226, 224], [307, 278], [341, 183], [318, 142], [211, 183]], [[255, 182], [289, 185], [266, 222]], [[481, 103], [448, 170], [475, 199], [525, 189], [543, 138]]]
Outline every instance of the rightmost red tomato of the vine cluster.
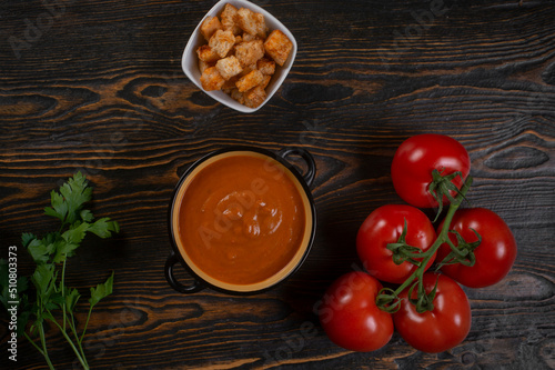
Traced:
[[[440, 224], [443, 227], [444, 221]], [[482, 242], [474, 250], [476, 262], [474, 266], [461, 263], [447, 264], [442, 271], [471, 288], [493, 286], [505, 278], [516, 259], [516, 241], [508, 226], [495, 212], [484, 208], [460, 209], [450, 226], [450, 230], [457, 231], [467, 243], [478, 240], [471, 230], [474, 229], [482, 237]], [[451, 241], [457, 246], [456, 236], [450, 232]], [[437, 261], [451, 252], [444, 243], [437, 251]]]

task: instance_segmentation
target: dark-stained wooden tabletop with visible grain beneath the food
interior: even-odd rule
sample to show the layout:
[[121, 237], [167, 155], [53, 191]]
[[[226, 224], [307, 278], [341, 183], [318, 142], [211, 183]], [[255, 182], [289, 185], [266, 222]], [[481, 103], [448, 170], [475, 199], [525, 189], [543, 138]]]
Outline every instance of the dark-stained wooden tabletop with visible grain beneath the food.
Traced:
[[[46, 233], [50, 191], [78, 170], [90, 204], [121, 232], [68, 264], [84, 296], [115, 271], [88, 332], [94, 369], [548, 369], [555, 367], [555, 4], [553, 1], [255, 1], [295, 36], [284, 84], [252, 114], [214, 102], [181, 70], [214, 1], [4, 1], [0, 34], [2, 257]], [[379, 351], [332, 343], [314, 304], [357, 262], [356, 231], [402, 203], [390, 166], [406, 138], [436, 132], [468, 150], [471, 206], [497, 212], [518, 257], [508, 277], [466, 289], [466, 340], [426, 354], [394, 333]], [[174, 186], [198, 158], [233, 144], [315, 158], [313, 249], [286, 283], [252, 297], [180, 294], [164, 279]], [[19, 272], [32, 272], [19, 247]], [[182, 273], [181, 279], [186, 277]], [[85, 304], [79, 308], [84, 311]], [[84, 316], [84, 312], [81, 314]], [[8, 318], [2, 316], [3, 320]], [[84, 317], [79, 317], [80, 321]], [[43, 369], [20, 340], [17, 362]], [[56, 328], [50, 357], [74, 354]]]

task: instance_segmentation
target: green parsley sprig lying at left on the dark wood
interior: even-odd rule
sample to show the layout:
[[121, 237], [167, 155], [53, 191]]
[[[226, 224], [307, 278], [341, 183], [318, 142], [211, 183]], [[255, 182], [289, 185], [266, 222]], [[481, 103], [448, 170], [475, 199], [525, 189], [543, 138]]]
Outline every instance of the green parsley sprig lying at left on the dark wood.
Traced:
[[[18, 279], [18, 297], [8, 296], [7, 279], [0, 279], [0, 301], [8, 309], [9, 301], [19, 301], [18, 334], [24, 336], [31, 344], [44, 357], [50, 369], [54, 369], [47, 349], [44, 326], [51, 322], [74, 351], [79, 362], [89, 369], [83, 351], [83, 338], [92, 313], [92, 308], [103, 298], [112, 293], [113, 272], [103, 283], [90, 288], [89, 312], [81, 333], [75, 322], [75, 307], [81, 294], [75, 288], [65, 286], [65, 266], [68, 257], [72, 257], [88, 233], [100, 238], [109, 238], [112, 232], [119, 232], [119, 224], [109, 218], [94, 221], [90, 210], [83, 206], [91, 200], [92, 188], [85, 177], [78, 172], [60, 187], [59, 192], [50, 193], [51, 207], [44, 213], [61, 221], [58, 231], [39, 238], [32, 233], [23, 233], [21, 241], [30, 253], [37, 268], [30, 278], [36, 290], [34, 300], [26, 293], [29, 282], [24, 277]], [[0, 277], [8, 277], [6, 260], [0, 261]], [[61, 311], [61, 314], [59, 313]], [[29, 326], [29, 333], [26, 328]], [[37, 342], [33, 338], [40, 338]]]

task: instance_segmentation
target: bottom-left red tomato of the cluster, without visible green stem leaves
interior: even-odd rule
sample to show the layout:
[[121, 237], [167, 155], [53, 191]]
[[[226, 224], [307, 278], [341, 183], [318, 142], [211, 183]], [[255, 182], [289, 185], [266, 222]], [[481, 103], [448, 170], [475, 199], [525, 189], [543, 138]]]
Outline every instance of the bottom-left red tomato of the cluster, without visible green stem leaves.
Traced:
[[351, 351], [369, 352], [384, 347], [393, 334], [391, 314], [375, 300], [380, 281], [361, 271], [345, 273], [327, 289], [317, 308], [327, 337]]

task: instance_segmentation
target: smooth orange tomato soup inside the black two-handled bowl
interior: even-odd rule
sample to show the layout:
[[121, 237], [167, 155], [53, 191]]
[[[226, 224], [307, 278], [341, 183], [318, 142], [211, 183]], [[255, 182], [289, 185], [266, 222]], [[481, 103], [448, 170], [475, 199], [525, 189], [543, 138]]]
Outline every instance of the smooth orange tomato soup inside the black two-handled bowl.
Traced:
[[309, 204], [299, 181], [262, 154], [218, 157], [178, 192], [179, 248], [188, 263], [215, 284], [239, 286], [294, 268], [307, 238]]

